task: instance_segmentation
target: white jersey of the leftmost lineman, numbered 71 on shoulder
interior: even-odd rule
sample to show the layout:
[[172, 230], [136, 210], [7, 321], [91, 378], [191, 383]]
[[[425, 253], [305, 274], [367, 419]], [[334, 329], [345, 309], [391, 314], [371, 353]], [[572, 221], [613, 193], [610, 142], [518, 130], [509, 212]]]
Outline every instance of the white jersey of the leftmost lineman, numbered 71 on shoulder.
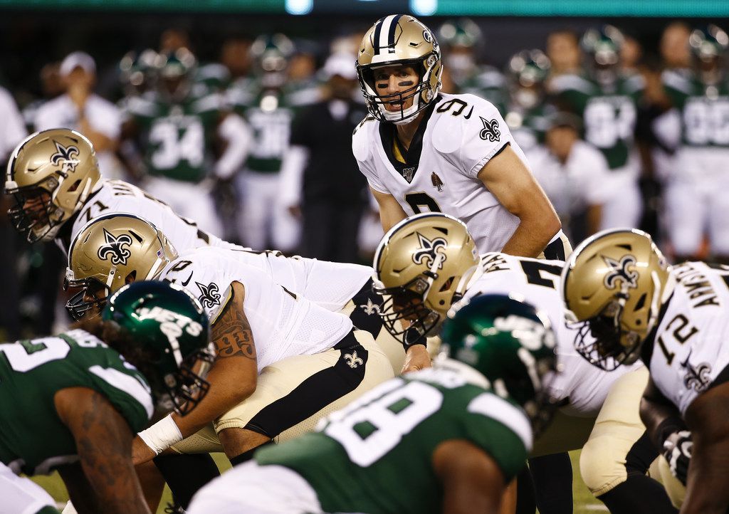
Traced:
[[241, 248], [200, 230], [195, 222], [177, 215], [166, 203], [122, 180], [103, 180], [101, 189], [90, 195], [84, 208], [74, 219], [70, 238], [66, 240], [66, 235], [69, 234], [66, 227], [63, 227], [55, 241], [61, 246], [63, 253], [67, 254], [67, 245], [87, 222], [105, 214], [122, 212], [142, 217], [162, 230], [178, 254], [198, 246]]

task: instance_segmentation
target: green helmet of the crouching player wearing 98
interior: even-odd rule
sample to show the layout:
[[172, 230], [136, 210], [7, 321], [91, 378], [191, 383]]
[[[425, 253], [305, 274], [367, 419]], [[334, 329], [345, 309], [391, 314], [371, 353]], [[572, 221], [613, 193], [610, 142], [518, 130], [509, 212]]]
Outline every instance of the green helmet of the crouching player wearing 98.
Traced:
[[534, 435], [542, 431], [555, 409], [547, 386], [556, 371], [545, 314], [506, 295], [480, 295], [448, 314], [441, 338], [449, 357], [474, 367], [496, 394], [521, 405]]

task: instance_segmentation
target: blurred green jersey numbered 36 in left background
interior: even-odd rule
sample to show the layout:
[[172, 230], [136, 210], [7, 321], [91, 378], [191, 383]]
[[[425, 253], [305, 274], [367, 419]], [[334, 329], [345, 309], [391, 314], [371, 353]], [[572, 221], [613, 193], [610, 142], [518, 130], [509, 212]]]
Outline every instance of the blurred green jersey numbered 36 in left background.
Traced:
[[267, 89], [257, 79], [234, 82], [227, 92], [233, 110], [253, 131], [253, 144], [245, 167], [257, 173], [278, 173], [289, 149], [291, 124], [297, 109], [319, 100], [313, 82], [289, 83]]

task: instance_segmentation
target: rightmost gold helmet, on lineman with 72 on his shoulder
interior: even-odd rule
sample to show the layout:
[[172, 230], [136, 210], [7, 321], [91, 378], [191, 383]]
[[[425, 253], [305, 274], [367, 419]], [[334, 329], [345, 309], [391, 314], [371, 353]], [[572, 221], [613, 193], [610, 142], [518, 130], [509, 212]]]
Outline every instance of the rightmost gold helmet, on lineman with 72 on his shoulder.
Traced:
[[574, 346], [582, 357], [604, 370], [635, 362], [658, 321], [670, 269], [641, 230], [604, 230], [577, 246], [562, 271], [562, 295], [580, 324]]

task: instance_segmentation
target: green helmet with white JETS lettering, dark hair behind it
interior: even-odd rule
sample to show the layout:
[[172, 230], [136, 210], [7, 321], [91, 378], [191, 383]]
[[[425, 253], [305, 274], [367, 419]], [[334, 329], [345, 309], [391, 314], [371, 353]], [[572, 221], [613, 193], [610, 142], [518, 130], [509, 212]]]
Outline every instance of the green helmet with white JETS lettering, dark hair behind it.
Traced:
[[187, 290], [163, 281], [140, 281], [112, 295], [101, 314], [124, 334], [104, 338], [147, 377], [157, 401], [171, 400], [184, 416], [207, 394], [214, 360], [208, 316]]

